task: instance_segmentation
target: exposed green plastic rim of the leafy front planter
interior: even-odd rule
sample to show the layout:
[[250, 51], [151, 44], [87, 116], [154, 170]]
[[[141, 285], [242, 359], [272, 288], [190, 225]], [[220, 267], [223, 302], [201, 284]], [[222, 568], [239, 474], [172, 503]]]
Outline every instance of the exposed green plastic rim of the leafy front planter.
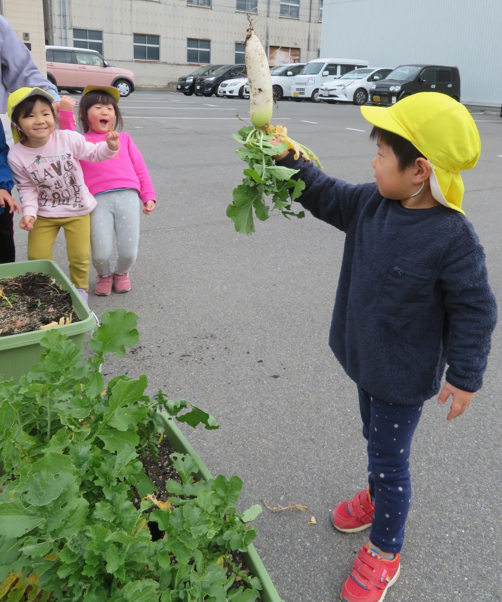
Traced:
[[[196, 465], [199, 467], [198, 476], [203, 479], [211, 479], [212, 475], [207, 470], [206, 465], [199, 458], [198, 453], [193, 449], [192, 445], [189, 444], [186, 437], [183, 435], [180, 429], [175, 424], [175, 421], [166, 412], [159, 412], [164, 424], [166, 426], [166, 437], [171, 443], [172, 447], [177, 452], [189, 454], [195, 460]], [[262, 582], [261, 597], [263, 602], [284, 602], [280, 595], [275, 589], [274, 583], [267, 573], [265, 566], [263, 565], [262, 559], [258, 555], [256, 548], [253, 544], [250, 544], [248, 551], [243, 554], [246, 565], [248, 566], [254, 577], [258, 577]]]

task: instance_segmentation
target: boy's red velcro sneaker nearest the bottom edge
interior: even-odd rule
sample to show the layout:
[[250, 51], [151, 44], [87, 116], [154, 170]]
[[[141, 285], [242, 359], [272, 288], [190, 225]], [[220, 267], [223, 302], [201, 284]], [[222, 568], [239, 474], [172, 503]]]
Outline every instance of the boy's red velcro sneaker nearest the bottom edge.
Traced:
[[387, 589], [397, 582], [400, 571], [399, 554], [392, 560], [385, 560], [363, 546], [342, 587], [340, 599], [342, 602], [383, 602]]

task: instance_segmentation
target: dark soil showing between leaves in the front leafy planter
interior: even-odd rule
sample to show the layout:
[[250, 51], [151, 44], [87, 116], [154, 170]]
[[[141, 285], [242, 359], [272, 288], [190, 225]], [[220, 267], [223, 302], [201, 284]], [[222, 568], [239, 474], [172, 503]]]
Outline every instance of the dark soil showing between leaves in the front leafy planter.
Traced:
[[[168, 481], [169, 479], [174, 479], [181, 483], [178, 471], [172, 465], [171, 458], [169, 458], [169, 456], [175, 452], [176, 450], [173, 447], [171, 447], [171, 444], [169, 443], [168, 439], [164, 438], [160, 442], [160, 445], [158, 445], [157, 461], [155, 461], [152, 458], [151, 454], [148, 451], [146, 452], [146, 458], [141, 458], [141, 461], [143, 462], [143, 467], [145, 468], [145, 473], [148, 475], [148, 478], [151, 480], [152, 483], [154, 483], [155, 488], [157, 489], [157, 491], [155, 492], [155, 497], [159, 501], [167, 501], [170, 495], [168, 494], [168, 492], [166, 492], [166, 481]], [[135, 498], [133, 500], [134, 506], [139, 507], [139, 502], [139, 498]], [[150, 527], [150, 530], [152, 532], [152, 538], [162, 537], [162, 532], [158, 530], [156, 523], [148, 523], [148, 526]], [[247, 568], [246, 563], [240, 552], [233, 551], [230, 553], [230, 556], [232, 562], [234, 563], [234, 565], [237, 566], [237, 568], [239, 568], [240, 571], [244, 571], [246, 575], [250, 574], [250, 571]], [[231, 568], [228, 567], [227, 576], [230, 576], [230, 574]], [[240, 579], [240, 577], [237, 577], [233, 587], [239, 588], [240, 585], [243, 585], [242, 580]], [[262, 602], [262, 598], [258, 597], [256, 599], [256, 602]]]

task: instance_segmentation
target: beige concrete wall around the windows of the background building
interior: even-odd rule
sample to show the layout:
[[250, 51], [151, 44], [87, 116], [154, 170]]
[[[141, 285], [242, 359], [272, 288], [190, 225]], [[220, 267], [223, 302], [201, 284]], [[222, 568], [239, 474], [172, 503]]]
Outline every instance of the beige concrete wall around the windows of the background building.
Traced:
[[[187, 39], [210, 40], [210, 63], [234, 63], [235, 45], [244, 42], [248, 27], [236, 1], [213, 0], [206, 8], [181, 0], [43, 0], [46, 38], [73, 45], [75, 28], [102, 31], [104, 57], [133, 71], [137, 85], [174, 85], [200, 64], [187, 63]], [[258, 0], [256, 31], [265, 48], [299, 48], [301, 61], [315, 58], [319, 1], [300, 0], [300, 18], [287, 19], [280, 17], [280, 0]], [[134, 60], [134, 34], [160, 37], [159, 61]]]

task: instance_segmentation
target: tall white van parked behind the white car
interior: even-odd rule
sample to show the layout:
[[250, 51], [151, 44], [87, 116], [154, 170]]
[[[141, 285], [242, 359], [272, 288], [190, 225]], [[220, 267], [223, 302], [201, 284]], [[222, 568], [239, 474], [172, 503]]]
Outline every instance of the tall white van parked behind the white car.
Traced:
[[359, 67], [368, 67], [369, 61], [357, 58], [315, 58], [309, 61], [291, 86], [291, 98], [297, 102], [309, 99], [319, 102], [322, 84]]

